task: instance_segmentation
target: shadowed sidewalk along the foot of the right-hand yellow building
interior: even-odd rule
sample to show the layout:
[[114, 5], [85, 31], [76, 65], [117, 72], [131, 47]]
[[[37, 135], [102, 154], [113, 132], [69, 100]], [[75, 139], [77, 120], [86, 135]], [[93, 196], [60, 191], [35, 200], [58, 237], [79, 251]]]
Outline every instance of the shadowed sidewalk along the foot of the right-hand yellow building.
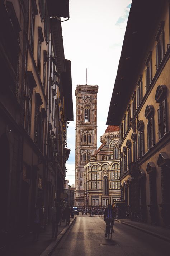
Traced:
[[153, 235], [154, 237], [158, 237], [164, 241], [170, 242], [170, 229], [164, 228], [161, 226], [151, 225], [149, 223], [131, 221], [128, 219], [116, 219], [119, 223], [130, 226], [132, 228], [138, 229], [147, 234]]

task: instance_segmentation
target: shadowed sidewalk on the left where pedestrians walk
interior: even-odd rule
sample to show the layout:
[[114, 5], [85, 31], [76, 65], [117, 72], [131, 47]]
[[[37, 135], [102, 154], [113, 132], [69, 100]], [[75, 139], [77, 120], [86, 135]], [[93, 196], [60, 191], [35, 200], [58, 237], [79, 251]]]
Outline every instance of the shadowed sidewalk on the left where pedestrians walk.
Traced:
[[[70, 219], [70, 225], [74, 221], [75, 218]], [[70, 226], [69, 225], [69, 226]], [[0, 252], [1, 256], [47, 256], [48, 254], [44, 252], [48, 252], [52, 246], [55, 246], [58, 241], [61, 239], [61, 236], [65, 234], [69, 226], [66, 226], [66, 223], [62, 221], [61, 226], [58, 226], [58, 235], [57, 240], [52, 241], [52, 225], [49, 224], [46, 226], [46, 230], [39, 235], [39, 239], [37, 242], [33, 242], [33, 234], [28, 235], [27, 237], [23, 237], [14, 245], [6, 248], [3, 252]], [[2, 254], [1, 254], [2, 253]], [[43, 253], [43, 254], [42, 254]]]

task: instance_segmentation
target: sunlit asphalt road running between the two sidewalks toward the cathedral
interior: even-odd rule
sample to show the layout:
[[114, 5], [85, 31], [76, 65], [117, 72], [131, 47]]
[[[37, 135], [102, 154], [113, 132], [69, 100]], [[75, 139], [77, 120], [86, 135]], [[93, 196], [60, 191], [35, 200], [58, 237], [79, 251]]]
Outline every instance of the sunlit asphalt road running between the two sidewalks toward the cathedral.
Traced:
[[170, 243], [115, 222], [112, 241], [103, 217], [77, 216], [52, 256], [169, 256]]

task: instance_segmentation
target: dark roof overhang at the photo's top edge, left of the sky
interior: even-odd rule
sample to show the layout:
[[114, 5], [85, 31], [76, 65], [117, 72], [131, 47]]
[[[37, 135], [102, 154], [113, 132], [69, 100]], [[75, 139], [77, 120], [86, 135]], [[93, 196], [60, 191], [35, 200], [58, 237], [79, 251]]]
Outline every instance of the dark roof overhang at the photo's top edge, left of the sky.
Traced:
[[69, 18], [69, 0], [47, 0], [49, 17]]

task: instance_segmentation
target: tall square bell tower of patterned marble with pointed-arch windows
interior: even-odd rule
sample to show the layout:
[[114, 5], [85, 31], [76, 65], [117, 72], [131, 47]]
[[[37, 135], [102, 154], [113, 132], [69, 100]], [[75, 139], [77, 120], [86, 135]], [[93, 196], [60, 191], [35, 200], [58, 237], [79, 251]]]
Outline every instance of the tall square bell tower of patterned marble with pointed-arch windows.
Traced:
[[84, 165], [97, 149], [97, 85], [77, 85], [75, 206], [84, 206]]

